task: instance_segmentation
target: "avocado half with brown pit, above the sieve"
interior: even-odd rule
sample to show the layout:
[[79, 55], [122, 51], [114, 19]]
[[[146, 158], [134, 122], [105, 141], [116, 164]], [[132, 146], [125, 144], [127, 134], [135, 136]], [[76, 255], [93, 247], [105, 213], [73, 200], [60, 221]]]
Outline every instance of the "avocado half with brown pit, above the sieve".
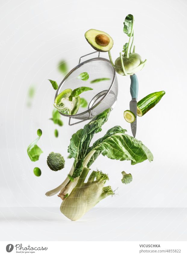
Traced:
[[108, 52], [113, 46], [113, 39], [101, 30], [89, 29], [85, 33], [88, 43], [99, 52]]

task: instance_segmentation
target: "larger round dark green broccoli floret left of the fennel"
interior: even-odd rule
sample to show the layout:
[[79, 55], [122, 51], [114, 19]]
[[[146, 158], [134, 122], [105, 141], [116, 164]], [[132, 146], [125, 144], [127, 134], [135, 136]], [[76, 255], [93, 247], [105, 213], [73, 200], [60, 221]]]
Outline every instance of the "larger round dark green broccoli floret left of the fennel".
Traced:
[[60, 153], [49, 153], [47, 157], [47, 165], [53, 171], [58, 171], [64, 168], [65, 160]]

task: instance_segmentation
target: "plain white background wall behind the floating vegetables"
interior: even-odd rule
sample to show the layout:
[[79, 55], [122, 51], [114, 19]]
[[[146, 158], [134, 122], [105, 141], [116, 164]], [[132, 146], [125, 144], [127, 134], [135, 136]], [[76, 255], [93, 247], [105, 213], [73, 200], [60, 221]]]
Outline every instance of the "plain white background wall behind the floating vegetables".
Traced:
[[[80, 125], [58, 127], [51, 118], [55, 90], [47, 79], [58, 84], [63, 76], [58, 62], [67, 60], [69, 69], [79, 57], [92, 52], [84, 33], [90, 28], [109, 33], [114, 40], [113, 60], [119, 56], [127, 36], [123, 21], [135, 17], [136, 51], [146, 58], [145, 68], [137, 73], [139, 99], [165, 90], [158, 105], [138, 118], [137, 139], [153, 153], [154, 161], [131, 166], [130, 162], [100, 156], [92, 168], [109, 174], [108, 185], [118, 187], [118, 195], [101, 201], [98, 207], [186, 207], [186, 1], [1, 1], [0, 8], [0, 168], [2, 207], [60, 207], [57, 196], [45, 192], [66, 177], [73, 160], [67, 159], [71, 135]], [[107, 53], [102, 57], [108, 58]], [[108, 128], [121, 125], [131, 134], [123, 119], [129, 109], [130, 79], [118, 75], [117, 106], [110, 115], [101, 137]], [[29, 86], [36, 87], [31, 108], [26, 106]], [[44, 153], [31, 162], [27, 146], [43, 135], [38, 143]], [[59, 137], [54, 137], [58, 128]], [[53, 172], [46, 164], [49, 152], [66, 158], [62, 171]], [[42, 175], [36, 177], [38, 166]], [[123, 185], [121, 172], [132, 173], [133, 182]]]

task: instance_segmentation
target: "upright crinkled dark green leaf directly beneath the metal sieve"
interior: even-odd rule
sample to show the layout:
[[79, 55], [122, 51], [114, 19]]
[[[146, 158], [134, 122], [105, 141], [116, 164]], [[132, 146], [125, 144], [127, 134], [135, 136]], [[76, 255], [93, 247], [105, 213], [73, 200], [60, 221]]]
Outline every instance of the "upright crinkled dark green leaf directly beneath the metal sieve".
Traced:
[[74, 133], [70, 139], [68, 153], [70, 158], [74, 158], [74, 172], [72, 177], [76, 178], [82, 171], [84, 156], [89, 153], [89, 144], [95, 133], [101, 131], [101, 126], [108, 120], [110, 109], [106, 109], [101, 114], [95, 116], [83, 129]]

